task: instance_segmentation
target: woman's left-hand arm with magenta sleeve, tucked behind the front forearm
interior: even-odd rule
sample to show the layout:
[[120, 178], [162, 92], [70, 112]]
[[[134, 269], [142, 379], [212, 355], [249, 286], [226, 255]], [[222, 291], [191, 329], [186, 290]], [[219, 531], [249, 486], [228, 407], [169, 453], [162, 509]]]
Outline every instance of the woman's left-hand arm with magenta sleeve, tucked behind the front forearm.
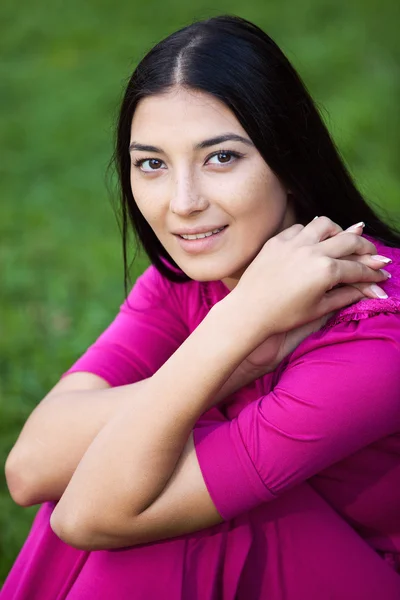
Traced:
[[[367, 255], [359, 259], [364, 257]], [[378, 266], [375, 263], [374, 268]], [[40, 402], [6, 464], [10, 491], [18, 503], [58, 500], [100, 429], [119, 408], [132, 401], [136, 384], [153, 375], [186, 339], [188, 293], [181, 293], [186, 289], [171, 285], [149, 267], [136, 281], [112, 324]], [[302, 331], [299, 338], [299, 333], [296, 339], [286, 338], [280, 344], [279, 360], [291, 344], [295, 347], [308, 335]], [[268, 363], [279, 339], [275, 336], [271, 342], [267, 341], [267, 349], [263, 346], [256, 350], [257, 364], [260, 359], [262, 366]], [[263, 372], [257, 373], [254, 366], [250, 372], [247, 368], [242, 372], [237, 369], [215, 401], [260, 377]]]

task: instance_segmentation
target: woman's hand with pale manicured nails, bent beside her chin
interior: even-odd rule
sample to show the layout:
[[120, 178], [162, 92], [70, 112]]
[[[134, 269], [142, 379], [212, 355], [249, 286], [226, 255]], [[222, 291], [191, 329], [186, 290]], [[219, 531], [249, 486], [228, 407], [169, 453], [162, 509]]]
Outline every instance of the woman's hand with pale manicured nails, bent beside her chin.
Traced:
[[377, 297], [370, 286], [387, 279], [379, 270], [384, 263], [371, 259], [376, 247], [361, 233], [319, 217], [264, 244], [229, 294], [239, 303], [253, 348], [365, 296]]

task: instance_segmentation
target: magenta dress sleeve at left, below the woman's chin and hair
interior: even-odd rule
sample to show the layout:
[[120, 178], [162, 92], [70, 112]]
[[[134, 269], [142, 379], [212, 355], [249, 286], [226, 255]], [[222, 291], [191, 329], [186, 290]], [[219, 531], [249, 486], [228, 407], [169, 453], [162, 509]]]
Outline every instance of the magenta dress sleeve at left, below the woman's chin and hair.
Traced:
[[115, 387], [153, 375], [189, 335], [177, 285], [150, 266], [114, 321], [62, 377], [86, 371]]

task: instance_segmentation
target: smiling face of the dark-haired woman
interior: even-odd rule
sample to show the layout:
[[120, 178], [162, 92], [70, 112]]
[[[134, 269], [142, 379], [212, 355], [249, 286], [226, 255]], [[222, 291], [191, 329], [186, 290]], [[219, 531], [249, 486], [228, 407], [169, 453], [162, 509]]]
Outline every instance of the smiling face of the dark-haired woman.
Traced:
[[296, 222], [285, 187], [210, 94], [174, 88], [141, 100], [130, 153], [139, 210], [192, 279], [233, 289], [263, 244]]

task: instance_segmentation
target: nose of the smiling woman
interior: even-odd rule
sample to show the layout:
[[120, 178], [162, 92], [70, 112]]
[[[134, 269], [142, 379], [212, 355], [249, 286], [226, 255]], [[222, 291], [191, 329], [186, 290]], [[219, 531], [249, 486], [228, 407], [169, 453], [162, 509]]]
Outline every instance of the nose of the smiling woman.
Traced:
[[187, 217], [192, 213], [201, 212], [209, 206], [206, 196], [202, 193], [196, 177], [182, 174], [176, 177], [171, 190], [171, 212]]

